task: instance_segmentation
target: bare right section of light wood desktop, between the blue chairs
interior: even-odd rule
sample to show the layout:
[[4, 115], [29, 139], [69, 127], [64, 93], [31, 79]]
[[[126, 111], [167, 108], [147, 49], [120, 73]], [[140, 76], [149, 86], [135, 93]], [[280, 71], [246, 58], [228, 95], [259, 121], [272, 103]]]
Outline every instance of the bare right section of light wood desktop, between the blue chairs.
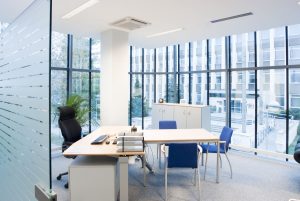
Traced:
[[176, 142], [218, 142], [215, 136], [205, 129], [155, 129], [143, 130], [145, 143]]

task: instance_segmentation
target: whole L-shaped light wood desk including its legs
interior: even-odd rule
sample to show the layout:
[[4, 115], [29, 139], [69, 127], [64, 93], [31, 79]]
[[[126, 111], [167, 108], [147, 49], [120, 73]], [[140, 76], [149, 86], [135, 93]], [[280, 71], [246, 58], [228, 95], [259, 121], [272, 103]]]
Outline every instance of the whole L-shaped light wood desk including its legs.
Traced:
[[[112, 144], [115, 136], [120, 132], [130, 132], [130, 126], [102, 126], [91, 134], [72, 144], [64, 151], [64, 156], [112, 156], [119, 158], [120, 164], [120, 201], [128, 201], [128, 157], [143, 156], [144, 185], [146, 185], [145, 152], [118, 152], [117, 146]], [[164, 143], [189, 143], [189, 142], [212, 142], [217, 143], [217, 176], [219, 182], [219, 137], [209, 133], [205, 129], [164, 129], [143, 130], [146, 144]], [[100, 145], [91, 145], [91, 142], [100, 135], [109, 135], [109, 144], [103, 142]], [[107, 141], [106, 140], [106, 141]]]

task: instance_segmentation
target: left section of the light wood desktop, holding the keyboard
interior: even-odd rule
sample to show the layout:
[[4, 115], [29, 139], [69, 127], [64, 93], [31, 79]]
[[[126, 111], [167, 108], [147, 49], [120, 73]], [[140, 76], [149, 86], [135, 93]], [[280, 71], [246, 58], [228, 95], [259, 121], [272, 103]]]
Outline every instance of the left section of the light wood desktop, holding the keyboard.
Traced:
[[[135, 156], [144, 155], [145, 152], [118, 152], [117, 145], [112, 144], [115, 136], [120, 132], [130, 132], [130, 126], [103, 126], [78, 140], [67, 150], [64, 151], [65, 156]], [[91, 142], [97, 139], [100, 135], [108, 135], [107, 140], [111, 141], [110, 144], [103, 142], [99, 145], [91, 145]], [[107, 141], [106, 140], [106, 141]]]

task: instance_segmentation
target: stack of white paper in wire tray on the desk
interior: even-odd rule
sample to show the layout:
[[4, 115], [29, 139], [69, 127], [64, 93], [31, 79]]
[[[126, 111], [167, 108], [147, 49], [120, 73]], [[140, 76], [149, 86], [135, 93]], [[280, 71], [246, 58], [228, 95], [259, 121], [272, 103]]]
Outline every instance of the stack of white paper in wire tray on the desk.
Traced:
[[144, 151], [142, 132], [119, 133], [117, 136], [118, 151]]

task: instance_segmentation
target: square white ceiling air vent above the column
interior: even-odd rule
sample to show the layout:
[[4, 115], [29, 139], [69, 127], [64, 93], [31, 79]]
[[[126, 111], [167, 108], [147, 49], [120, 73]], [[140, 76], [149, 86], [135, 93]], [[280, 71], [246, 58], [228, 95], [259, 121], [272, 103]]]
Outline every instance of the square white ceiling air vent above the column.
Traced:
[[111, 23], [111, 25], [121, 29], [132, 31], [150, 25], [150, 23], [132, 17], [125, 17], [121, 20]]

